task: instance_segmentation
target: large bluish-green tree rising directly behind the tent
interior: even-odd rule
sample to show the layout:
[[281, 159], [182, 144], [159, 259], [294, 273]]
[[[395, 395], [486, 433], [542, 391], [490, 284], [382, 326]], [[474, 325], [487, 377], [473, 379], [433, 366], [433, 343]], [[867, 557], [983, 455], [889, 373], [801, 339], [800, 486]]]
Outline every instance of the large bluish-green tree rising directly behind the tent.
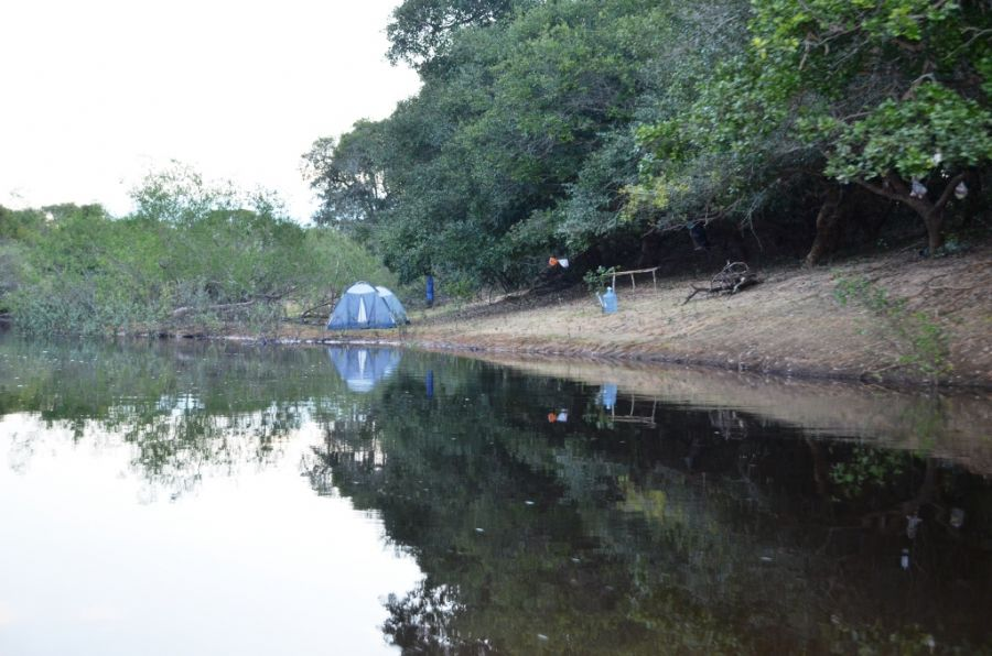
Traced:
[[640, 158], [632, 125], [676, 111], [730, 43], [712, 24], [741, 7], [403, 3], [405, 34], [430, 45], [393, 31], [393, 55], [421, 63], [423, 86], [385, 121], [314, 144], [319, 217], [369, 225], [363, 240], [403, 280], [476, 286], [530, 283], [549, 252], [638, 239], [619, 211]]

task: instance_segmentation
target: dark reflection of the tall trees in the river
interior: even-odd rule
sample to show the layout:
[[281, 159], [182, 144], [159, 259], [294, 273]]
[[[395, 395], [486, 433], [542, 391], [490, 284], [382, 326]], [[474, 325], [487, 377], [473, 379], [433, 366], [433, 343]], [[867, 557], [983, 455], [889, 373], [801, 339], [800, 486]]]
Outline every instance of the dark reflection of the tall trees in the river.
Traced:
[[[988, 557], [928, 515], [901, 571], [905, 534], [861, 522], [919, 486], [882, 472], [837, 501], [829, 472], [850, 446], [746, 413], [662, 408], [657, 426], [596, 428], [592, 391], [485, 367], [449, 376], [433, 398], [412, 378], [390, 384], [328, 430], [312, 475], [381, 516], [427, 572], [387, 603], [405, 652], [906, 650], [956, 613], [941, 641], [984, 631]], [[549, 407], [586, 420], [548, 424]], [[937, 495], [989, 496], [941, 467]], [[968, 516], [988, 533], [992, 517]]]

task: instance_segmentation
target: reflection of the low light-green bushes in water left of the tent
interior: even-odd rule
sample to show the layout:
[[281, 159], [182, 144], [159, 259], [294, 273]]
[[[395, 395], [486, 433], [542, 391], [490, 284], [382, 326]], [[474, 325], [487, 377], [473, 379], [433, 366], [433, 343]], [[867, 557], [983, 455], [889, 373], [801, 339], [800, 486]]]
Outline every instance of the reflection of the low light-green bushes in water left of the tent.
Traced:
[[[290, 433], [335, 416], [342, 385], [319, 351], [10, 336], [0, 343], [0, 414], [28, 413], [95, 447], [130, 445], [149, 496], [271, 464]], [[14, 445], [20, 467], [40, 435]]]

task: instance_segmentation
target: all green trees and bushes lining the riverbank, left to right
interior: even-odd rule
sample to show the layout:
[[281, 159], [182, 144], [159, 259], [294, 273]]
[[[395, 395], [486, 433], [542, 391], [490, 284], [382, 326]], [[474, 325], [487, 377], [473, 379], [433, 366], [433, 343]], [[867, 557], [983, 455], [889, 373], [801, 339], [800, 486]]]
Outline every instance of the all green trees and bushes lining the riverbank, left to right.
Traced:
[[182, 167], [122, 218], [0, 210], [0, 317], [265, 335], [358, 278], [468, 298], [990, 238], [988, 2], [405, 0], [387, 34], [422, 86], [313, 143], [317, 228]]

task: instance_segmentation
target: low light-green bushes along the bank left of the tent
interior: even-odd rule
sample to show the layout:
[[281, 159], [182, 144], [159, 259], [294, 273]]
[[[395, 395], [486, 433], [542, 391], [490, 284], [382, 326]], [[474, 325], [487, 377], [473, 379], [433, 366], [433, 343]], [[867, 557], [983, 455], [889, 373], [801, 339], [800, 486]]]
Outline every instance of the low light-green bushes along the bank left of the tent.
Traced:
[[149, 176], [137, 210], [98, 206], [0, 215], [0, 307], [44, 332], [265, 331], [355, 280], [392, 276], [339, 232], [304, 229], [277, 199]]

